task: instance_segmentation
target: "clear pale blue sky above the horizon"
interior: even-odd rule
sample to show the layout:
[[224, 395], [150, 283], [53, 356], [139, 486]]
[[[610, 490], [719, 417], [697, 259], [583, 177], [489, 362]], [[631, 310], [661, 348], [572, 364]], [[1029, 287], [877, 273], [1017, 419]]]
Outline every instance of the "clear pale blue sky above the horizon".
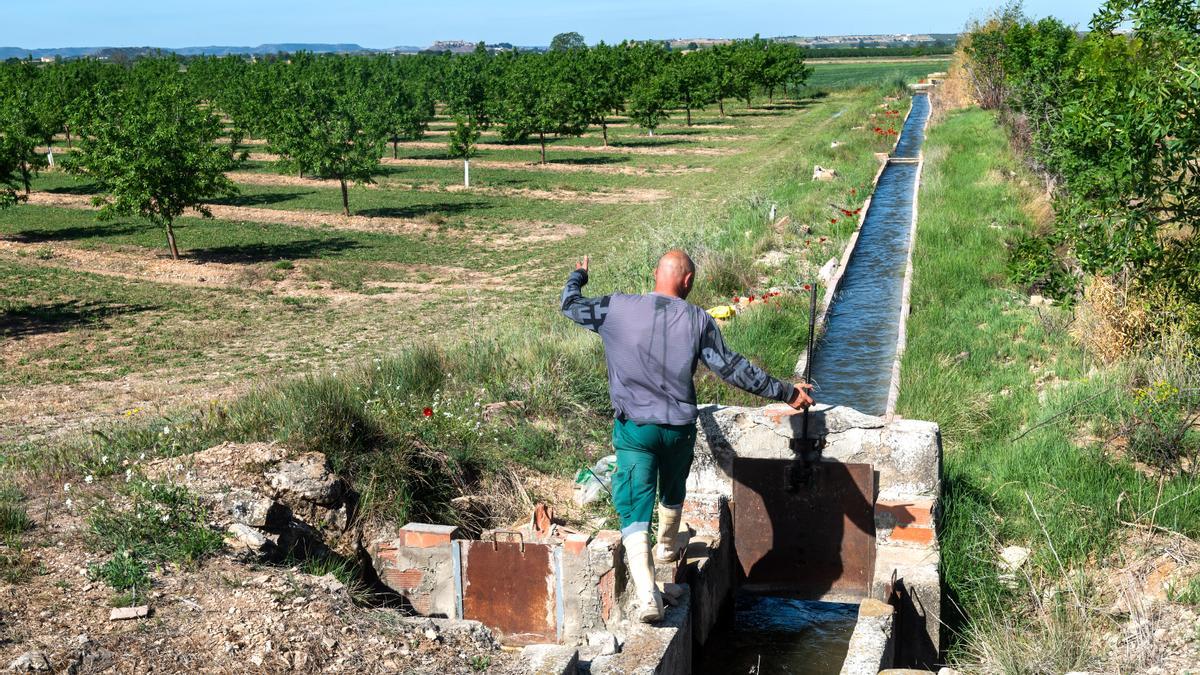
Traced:
[[[1100, 0], [1026, 0], [1032, 17], [1086, 28]], [[434, 40], [600, 40], [958, 32], [1001, 0], [0, 0], [0, 46], [196, 47]]]

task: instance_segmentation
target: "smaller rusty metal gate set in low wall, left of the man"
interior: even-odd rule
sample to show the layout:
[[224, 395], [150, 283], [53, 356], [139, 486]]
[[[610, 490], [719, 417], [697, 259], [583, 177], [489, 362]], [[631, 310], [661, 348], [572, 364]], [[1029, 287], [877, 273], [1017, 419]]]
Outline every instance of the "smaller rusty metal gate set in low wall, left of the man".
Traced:
[[559, 640], [560, 561], [553, 546], [494, 536], [458, 544], [463, 619], [480, 621], [509, 645]]

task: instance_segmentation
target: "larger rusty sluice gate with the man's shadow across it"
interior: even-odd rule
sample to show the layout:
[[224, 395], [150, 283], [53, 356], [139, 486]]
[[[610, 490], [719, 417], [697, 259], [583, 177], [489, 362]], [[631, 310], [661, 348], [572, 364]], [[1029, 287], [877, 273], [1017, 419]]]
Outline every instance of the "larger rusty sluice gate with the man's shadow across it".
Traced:
[[875, 472], [817, 461], [733, 460], [733, 542], [743, 589], [805, 599], [866, 597], [875, 569]]

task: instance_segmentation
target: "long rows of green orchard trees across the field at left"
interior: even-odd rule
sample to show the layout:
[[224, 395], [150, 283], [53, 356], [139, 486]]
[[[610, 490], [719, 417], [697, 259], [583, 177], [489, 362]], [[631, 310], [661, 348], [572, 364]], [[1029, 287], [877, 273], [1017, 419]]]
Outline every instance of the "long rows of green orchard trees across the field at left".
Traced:
[[[246, 137], [266, 141], [283, 171], [371, 183], [385, 145], [425, 136], [438, 110], [455, 120], [449, 139], [464, 169], [482, 131], [506, 142], [547, 139], [599, 127], [605, 145], [616, 115], [653, 135], [673, 114], [728, 100], [751, 106], [798, 91], [803, 50], [755, 36], [700, 52], [661, 43], [587, 47], [563, 40], [546, 53], [313, 55], [76, 60], [0, 65], [0, 207], [28, 198], [31, 178], [54, 161], [101, 189], [101, 217], [134, 215], [161, 225], [178, 257], [173, 221], [235, 193], [226, 172], [246, 159]], [[464, 180], [467, 180], [464, 171]]]

